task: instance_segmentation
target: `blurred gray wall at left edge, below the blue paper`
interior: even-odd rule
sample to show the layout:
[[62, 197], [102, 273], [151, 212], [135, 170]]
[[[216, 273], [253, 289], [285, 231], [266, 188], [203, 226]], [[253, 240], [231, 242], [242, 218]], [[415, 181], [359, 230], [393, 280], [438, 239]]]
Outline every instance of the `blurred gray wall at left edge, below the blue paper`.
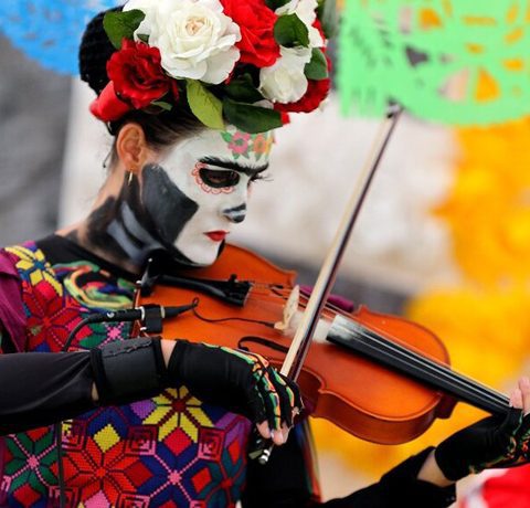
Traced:
[[71, 78], [0, 36], [0, 244], [42, 236], [57, 220]]

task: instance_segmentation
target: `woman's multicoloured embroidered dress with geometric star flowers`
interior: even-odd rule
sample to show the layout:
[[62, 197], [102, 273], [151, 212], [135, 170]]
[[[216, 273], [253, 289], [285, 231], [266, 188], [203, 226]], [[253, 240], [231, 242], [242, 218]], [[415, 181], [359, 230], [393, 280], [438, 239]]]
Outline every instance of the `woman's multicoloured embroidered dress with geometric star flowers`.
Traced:
[[[60, 351], [91, 313], [131, 305], [132, 283], [94, 260], [51, 265], [35, 243], [7, 252], [22, 282], [25, 351]], [[129, 328], [89, 325], [71, 350], [127, 339]], [[67, 505], [233, 507], [245, 481], [248, 433], [246, 419], [202, 403], [186, 387], [97, 409], [62, 425]], [[52, 427], [7, 436], [3, 462], [1, 506], [59, 504]]]

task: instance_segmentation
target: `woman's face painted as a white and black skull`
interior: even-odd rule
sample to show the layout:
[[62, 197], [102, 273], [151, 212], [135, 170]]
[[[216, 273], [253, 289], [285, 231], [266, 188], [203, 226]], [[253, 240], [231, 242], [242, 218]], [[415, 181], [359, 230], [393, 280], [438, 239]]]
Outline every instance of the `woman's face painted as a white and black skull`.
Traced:
[[142, 171], [141, 200], [162, 241], [197, 265], [212, 264], [246, 215], [252, 182], [268, 167], [272, 133], [203, 130]]

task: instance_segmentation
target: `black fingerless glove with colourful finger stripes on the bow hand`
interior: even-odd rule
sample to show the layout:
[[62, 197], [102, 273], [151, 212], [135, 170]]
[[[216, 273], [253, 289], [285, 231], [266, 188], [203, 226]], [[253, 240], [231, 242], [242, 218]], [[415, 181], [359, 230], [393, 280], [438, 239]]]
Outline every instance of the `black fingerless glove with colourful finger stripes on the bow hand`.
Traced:
[[272, 430], [293, 424], [301, 408], [297, 387], [258, 354], [178, 340], [168, 364], [173, 385], [184, 384], [199, 399], [243, 414]]

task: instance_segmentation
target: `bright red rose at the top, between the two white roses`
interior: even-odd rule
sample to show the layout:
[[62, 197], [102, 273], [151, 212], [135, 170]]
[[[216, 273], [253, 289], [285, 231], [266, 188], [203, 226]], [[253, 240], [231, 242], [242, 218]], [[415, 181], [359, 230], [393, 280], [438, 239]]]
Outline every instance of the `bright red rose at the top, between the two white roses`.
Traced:
[[274, 23], [277, 15], [263, 0], [221, 0], [224, 13], [239, 24], [241, 63], [256, 67], [269, 67], [279, 57], [279, 45], [274, 40]]

